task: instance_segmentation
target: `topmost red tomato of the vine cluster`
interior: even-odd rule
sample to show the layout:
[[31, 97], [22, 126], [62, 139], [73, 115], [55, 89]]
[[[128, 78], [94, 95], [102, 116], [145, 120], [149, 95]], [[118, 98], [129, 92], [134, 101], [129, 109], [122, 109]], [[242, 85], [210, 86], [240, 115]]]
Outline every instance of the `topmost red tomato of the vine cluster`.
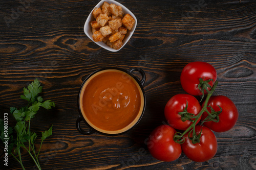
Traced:
[[[181, 86], [191, 95], [202, 95], [202, 92], [198, 89], [200, 78], [204, 80], [213, 79], [215, 82], [217, 72], [212, 65], [206, 62], [195, 61], [188, 63], [181, 72]], [[210, 81], [208, 84], [212, 87], [214, 83]], [[210, 88], [207, 89], [210, 90]], [[204, 93], [206, 94], [207, 91], [204, 90]]]

